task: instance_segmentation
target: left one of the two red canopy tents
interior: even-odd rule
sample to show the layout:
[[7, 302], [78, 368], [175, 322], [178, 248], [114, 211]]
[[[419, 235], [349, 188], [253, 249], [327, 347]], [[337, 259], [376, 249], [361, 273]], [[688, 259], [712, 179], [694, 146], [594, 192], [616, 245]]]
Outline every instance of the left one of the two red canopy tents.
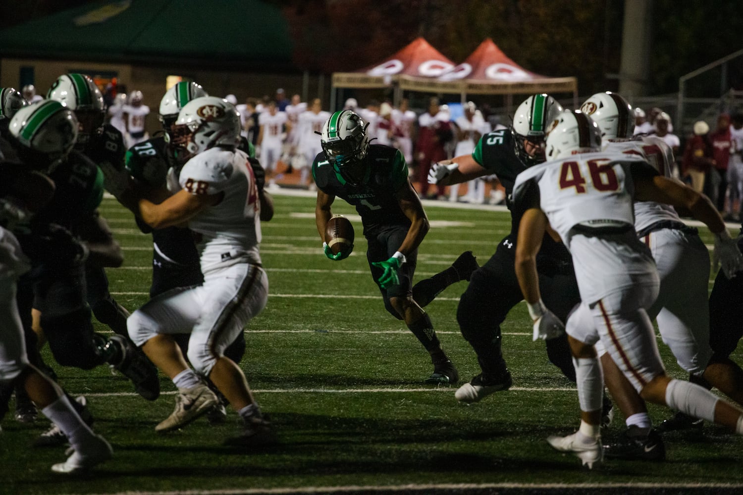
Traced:
[[335, 108], [336, 88], [397, 88], [402, 76], [435, 79], [451, 71], [454, 66], [454, 62], [439, 53], [425, 39], [416, 38], [376, 65], [354, 72], [333, 73], [331, 108]]

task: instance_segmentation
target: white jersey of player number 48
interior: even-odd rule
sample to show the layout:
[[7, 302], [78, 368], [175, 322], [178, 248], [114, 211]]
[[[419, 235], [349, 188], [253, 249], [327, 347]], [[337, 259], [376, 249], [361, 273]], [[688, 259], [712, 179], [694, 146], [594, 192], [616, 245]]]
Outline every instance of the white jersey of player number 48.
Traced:
[[260, 203], [253, 169], [242, 151], [210, 148], [181, 168], [181, 189], [191, 194], [224, 193], [224, 198], [189, 220], [189, 229], [201, 235], [201, 271], [236, 262], [261, 263]]

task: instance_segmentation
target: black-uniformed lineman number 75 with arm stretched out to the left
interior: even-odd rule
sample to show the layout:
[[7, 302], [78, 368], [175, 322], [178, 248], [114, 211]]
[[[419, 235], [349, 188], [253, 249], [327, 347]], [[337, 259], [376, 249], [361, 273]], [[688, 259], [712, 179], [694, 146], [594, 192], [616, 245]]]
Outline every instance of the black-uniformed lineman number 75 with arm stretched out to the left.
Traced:
[[[513, 260], [522, 211], [513, 209], [511, 194], [516, 176], [545, 160], [544, 140], [548, 125], [562, 107], [547, 94], [529, 96], [516, 108], [513, 126], [485, 134], [473, 154], [455, 157], [452, 162], [434, 165], [429, 183], [450, 185], [496, 174], [506, 189], [511, 212], [511, 231], [498, 244], [495, 254], [472, 275], [459, 300], [457, 322], [462, 336], [477, 354], [482, 373], [456, 391], [461, 402], [476, 402], [499, 390], [508, 390], [513, 380], [503, 358], [501, 327], [508, 312], [523, 300]], [[515, 151], [515, 152], [514, 152]], [[545, 235], [537, 258], [539, 283], [545, 301], [565, 321], [580, 301], [570, 253], [562, 243]], [[534, 336], [535, 340], [537, 336]], [[568, 341], [565, 335], [545, 341], [550, 361], [575, 381]], [[607, 406], [609, 408], [609, 406]], [[608, 419], [607, 419], [608, 420]]]

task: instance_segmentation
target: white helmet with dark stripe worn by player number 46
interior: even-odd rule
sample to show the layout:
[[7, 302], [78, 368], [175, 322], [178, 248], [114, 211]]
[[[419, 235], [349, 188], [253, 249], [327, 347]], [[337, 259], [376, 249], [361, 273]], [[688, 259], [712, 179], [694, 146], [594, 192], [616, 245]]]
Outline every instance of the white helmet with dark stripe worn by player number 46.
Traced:
[[547, 160], [601, 151], [601, 129], [582, 111], [565, 110], [547, 129]]

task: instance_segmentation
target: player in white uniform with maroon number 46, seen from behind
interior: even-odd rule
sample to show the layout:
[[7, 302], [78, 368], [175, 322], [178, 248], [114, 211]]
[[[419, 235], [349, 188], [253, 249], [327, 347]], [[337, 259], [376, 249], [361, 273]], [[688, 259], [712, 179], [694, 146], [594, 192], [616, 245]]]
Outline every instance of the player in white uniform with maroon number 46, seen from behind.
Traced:
[[[580, 429], [550, 436], [555, 449], [577, 455], [592, 468], [603, 461], [600, 438], [603, 373], [594, 344], [601, 341], [640, 396], [743, 434], [743, 411], [696, 384], [666, 375], [648, 318], [658, 295], [658, 271], [649, 249], [637, 239], [633, 199], [687, 209], [723, 241], [718, 249], [726, 269], [742, 257], [710, 201], [658, 175], [643, 157], [601, 151], [598, 125], [580, 111], [564, 111], [546, 140], [548, 163], [519, 174], [513, 190], [525, 213], [516, 246], [516, 275], [535, 330], [562, 331], [562, 323], [542, 301], [536, 254], [546, 233], [559, 235], [570, 249], [581, 304], [568, 320], [580, 402]], [[733, 248], [733, 249], [731, 249]], [[571, 325], [589, 313], [594, 326]]]

